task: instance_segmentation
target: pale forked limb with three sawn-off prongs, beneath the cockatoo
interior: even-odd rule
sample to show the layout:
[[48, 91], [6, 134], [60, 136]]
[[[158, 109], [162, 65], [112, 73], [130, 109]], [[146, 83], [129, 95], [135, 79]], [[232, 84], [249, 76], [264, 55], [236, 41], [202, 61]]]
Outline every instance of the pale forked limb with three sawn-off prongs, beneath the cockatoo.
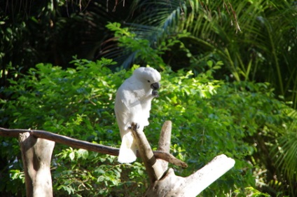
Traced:
[[[171, 137], [171, 122], [166, 121], [160, 135], [158, 150], [169, 152]], [[151, 186], [146, 191], [147, 197], [191, 197], [197, 196], [207, 186], [233, 168], [235, 161], [225, 155], [216, 156], [205, 167], [188, 177], [174, 175], [174, 170], [167, 170], [164, 161], [158, 161], [153, 155], [146, 136], [137, 129], [137, 124], [132, 123], [132, 133], [137, 143], [138, 151], [146, 167], [146, 172], [151, 180]], [[167, 170], [167, 171], [166, 171]]]

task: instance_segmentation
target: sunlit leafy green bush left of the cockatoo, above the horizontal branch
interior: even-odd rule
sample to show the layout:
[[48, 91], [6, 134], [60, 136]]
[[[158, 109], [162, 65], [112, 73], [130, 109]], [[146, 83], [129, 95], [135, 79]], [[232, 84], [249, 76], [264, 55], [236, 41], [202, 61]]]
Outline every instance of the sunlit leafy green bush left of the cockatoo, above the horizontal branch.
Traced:
[[[50, 64], [37, 64], [36, 69], [30, 69], [22, 80], [11, 81], [13, 86], [6, 89], [6, 94], [11, 96], [13, 105], [7, 110], [15, 119], [4, 120], [9, 121], [12, 128], [59, 130], [64, 135], [76, 137], [83, 132], [76, 130], [76, 125], [85, 124], [92, 128], [90, 116], [96, 116], [93, 124], [102, 130], [99, 126], [106, 120], [102, 116], [109, 114], [106, 111], [110, 110], [108, 106], [115, 93], [111, 72], [104, 67], [111, 61], [102, 60], [96, 64], [74, 60], [72, 63], [77, 65], [76, 69], [63, 70]], [[109, 78], [106, 78], [107, 74]], [[30, 116], [23, 116], [19, 111], [27, 111]]]

